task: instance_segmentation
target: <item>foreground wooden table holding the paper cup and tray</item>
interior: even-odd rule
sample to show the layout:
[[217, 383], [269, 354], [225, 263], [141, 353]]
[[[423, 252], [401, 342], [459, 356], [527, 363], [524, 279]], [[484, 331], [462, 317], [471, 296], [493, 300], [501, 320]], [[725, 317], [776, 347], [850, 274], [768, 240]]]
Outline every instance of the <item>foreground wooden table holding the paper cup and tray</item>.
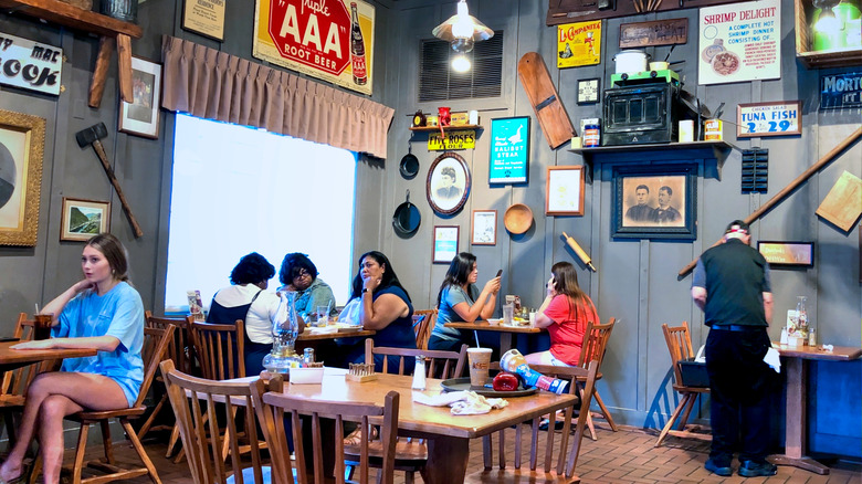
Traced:
[[[285, 393], [308, 400], [361, 401], [382, 404], [386, 393], [401, 394], [398, 414], [399, 435], [428, 439], [428, 464], [422, 471], [425, 483], [460, 483], [466, 475], [470, 439], [488, 435], [538, 415], [571, 406], [571, 394], [546, 391], [509, 398], [508, 407], [482, 415], [456, 417], [449, 407], [413, 403], [412, 377], [378, 375], [377, 380], [358, 383], [346, 381], [340, 372], [327, 369], [320, 385], [285, 385]], [[425, 394], [440, 394], [441, 380], [428, 379]]]

